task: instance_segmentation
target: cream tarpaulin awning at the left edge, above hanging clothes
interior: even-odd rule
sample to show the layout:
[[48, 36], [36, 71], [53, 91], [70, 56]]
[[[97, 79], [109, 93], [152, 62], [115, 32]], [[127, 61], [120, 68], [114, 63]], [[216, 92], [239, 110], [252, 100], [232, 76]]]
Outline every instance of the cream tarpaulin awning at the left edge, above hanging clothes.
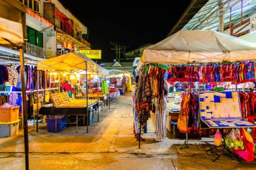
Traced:
[[0, 44], [9, 44], [3, 38], [15, 44], [24, 42], [22, 24], [0, 17]]

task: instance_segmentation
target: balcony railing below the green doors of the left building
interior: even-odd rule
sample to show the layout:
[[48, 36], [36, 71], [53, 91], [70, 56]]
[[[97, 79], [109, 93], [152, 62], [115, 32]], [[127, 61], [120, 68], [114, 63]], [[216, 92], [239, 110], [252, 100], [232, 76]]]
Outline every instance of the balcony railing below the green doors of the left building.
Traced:
[[45, 48], [29, 44], [28, 42], [26, 42], [26, 53], [42, 58], [53, 58], [56, 56], [55, 52], [52, 50], [47, 50]]

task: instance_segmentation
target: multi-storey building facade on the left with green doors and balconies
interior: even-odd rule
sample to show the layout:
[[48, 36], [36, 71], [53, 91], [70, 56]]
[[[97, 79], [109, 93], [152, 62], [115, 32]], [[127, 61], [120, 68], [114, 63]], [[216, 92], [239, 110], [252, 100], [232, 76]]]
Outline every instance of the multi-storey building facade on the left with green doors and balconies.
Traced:
[[[24, 57], [44, 60], [89, 49], [88, 28], [57, 0], [3, 0], [0, 17], [20, 22], [24, 33]], [[1, 61], [19, 60], [18, 51], [0, 44]]]

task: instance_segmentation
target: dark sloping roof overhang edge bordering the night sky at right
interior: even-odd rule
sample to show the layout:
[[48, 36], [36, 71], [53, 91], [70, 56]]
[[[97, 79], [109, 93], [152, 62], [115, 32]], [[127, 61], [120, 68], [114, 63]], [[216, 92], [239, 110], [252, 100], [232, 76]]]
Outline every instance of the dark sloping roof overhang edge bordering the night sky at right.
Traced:
[[181, 15], [181, 18], [179, 19], [177, 24], [175, 24], [172, 30], [170, 30], [167, 37], [178, 32], [179, 30], [182, 30], [182, 28], [193, 18], [193, 16], [201, 9], [201, 7], [203, 7], [203, 5], [207, 3], [207, 1], [208, 0], [191, 0], [191, 3], [187, 7], [183, 15]]

